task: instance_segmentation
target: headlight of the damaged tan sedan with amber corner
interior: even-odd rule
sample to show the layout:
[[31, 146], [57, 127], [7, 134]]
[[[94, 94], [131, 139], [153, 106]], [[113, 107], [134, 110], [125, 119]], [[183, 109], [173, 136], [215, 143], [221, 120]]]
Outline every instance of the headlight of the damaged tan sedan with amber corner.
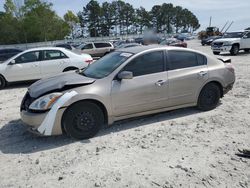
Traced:
[[36, 99], [29, 109], [31, 110], [49, 110], [53, 104], [62, 96], [62, 93], [51, 93]]

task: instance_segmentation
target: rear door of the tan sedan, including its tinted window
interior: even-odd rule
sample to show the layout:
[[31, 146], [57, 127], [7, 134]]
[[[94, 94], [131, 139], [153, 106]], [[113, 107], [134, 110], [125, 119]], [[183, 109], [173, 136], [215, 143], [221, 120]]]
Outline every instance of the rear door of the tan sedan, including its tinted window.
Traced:
[[169, 100], [171, 106], [194, 103], [208, 79], [205, 56], [182, 50], [168, 51]]

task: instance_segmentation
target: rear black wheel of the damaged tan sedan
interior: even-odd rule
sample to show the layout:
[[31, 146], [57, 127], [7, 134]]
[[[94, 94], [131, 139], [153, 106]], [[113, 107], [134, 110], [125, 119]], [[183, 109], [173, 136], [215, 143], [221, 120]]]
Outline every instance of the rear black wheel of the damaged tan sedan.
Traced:
[[198, 108], [203, 111], [214, 109], [220, 100], [221, 93], [218, 85], [210, 83], [201, 90], [198, 99]]

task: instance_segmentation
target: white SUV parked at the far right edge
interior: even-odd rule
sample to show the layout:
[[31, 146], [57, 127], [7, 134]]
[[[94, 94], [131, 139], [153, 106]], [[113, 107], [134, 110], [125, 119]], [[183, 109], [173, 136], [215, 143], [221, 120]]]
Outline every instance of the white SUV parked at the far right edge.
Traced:
[[230, 52], [231, 55], [237, 55], [240, 50], [250, 51], [250, 31], [238, 31], [225, 33], [221, 39], [215, 40], [211, 48], [215, 55], [220, 52]]

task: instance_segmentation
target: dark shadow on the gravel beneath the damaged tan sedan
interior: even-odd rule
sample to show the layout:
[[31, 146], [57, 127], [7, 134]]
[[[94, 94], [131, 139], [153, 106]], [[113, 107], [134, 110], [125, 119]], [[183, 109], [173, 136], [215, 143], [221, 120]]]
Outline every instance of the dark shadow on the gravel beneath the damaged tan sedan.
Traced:
[[[121, 132], [132, 128], [141, 127], [151, 123], [172, 120], [184, 116], [200, 113], [196, 108], [184, 108], [149, 116], [127, 119], [114, 123], [111, 127], [102, 129], [96, 137], [102, 137], [110, 133]], [[59, 148], [64, 145], [79, 142], [65, 135], [42, 137], [27, 131], [21, 120], [8, 122], [0, 129], [0, 151], [5, 154], [29, 154], [39, 151]], [[82, 140], [81, 143], [90, 143], [90, 140]]]

